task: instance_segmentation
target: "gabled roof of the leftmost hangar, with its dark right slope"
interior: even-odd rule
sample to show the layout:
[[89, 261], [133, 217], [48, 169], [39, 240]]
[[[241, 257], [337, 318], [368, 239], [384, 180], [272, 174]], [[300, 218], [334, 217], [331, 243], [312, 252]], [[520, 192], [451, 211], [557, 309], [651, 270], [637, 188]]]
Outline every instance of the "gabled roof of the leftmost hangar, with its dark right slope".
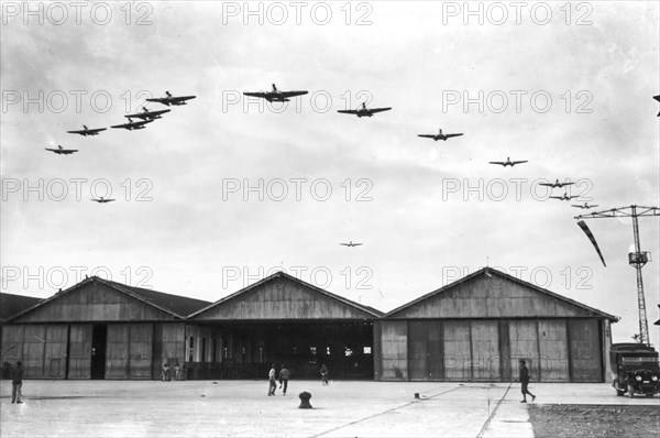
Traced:
[[130, 297], [145, 303], [148, 306], [155, 307], [156, 309], [162, 310], [166, 314], [169, 314], [177, 319], [185, 319], [188, 314], [199, 310], [200, 308], [206, 307], [210, 304], [209, 302], [205, 302], [201, 299], [188, 298], [180, 295], [172, 295], [153, 289], [128, 286], [125, 284], [112, 282], [98, 276], [91, 276], [85, 278], [80, 283], [75, 284], [74, 286], [65, 291], [57, 292], [55, 295], [36, 303], [35, 305], [24, 309], [23, 311], [20, 311], [19, 314], [13, 315], [8, 320], [18, 319], [25, 314], [29, 314], [37, 308], [48, 305], [50, 303], [61, 298], [66, 294], [69, 294], [95, 282], [111, 287], [112, 289], [118, 291], [122, 294], [129, 295]]

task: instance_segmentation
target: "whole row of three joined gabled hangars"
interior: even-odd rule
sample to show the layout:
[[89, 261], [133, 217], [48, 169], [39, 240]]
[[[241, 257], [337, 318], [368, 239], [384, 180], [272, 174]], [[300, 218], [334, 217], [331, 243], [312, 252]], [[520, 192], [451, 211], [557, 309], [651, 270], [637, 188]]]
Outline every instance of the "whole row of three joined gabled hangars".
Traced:
[[[8, 294], [3, 294], [8, 295]], [[617, 317], [482, 269], [383, 313], [279, 272], [216, 303], [90, 277], [8, 318], [2, 362], [28, 379], [604, 382]]]

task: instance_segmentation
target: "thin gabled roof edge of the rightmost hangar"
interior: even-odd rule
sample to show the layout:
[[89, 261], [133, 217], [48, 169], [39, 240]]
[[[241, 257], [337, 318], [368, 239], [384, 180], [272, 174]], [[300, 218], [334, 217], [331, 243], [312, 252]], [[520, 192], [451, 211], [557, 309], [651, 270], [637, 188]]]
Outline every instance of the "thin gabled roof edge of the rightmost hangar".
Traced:
[[482, 267], [481, 270], [479, 270], [476, 272], [473, 272], [472, 274], [469, 274], [469, 275], [464, 276], [461, 280], [458, 280], [458, 281], [455, 281], [455, 282], [453, 282], [451, 284], [448, 284], [447, 286], [443, 286], [443, 287], [441, 287], [439, 289], [436, 289], [436, 291], [430, 292], [430, 293], [428, 293], [426, 295], [422, 295], [421, 297], [419, 297], [417, 299], [414, 299], [410, 303], [407, 303], [407, 304], [405, 304], [405, 305], [403, 305], [400, 307], [395, 308], [394, 310], [388, 311], [387, 314], [385, 314], [384, 318], [396, 317], [396, 314], [399, 314], [399, 313], [402, 313], [403, 310], [406, 310], [406, 309], [410, 309], [411, 307], [415, 307], [418, 304], [420, 304], [422, 302], [426, 302], [426, 300], [428, 300], [428, 299], [430, 299], [432, 297], [440, 296], [440, 295], [446, 294], [446, 293], [448, 293], [450, 291], [453, 291], [457, 287], [463, 285], [464, 283], [466, 283], [466, 282], [469, 282], [469, 281], [471, 281], [473, 278], [479, 277], [480, 275], [485, 275], [485, 276], [494, 276], [494, 275], [496, 275], [496, 276], [503, 277], [505, 280], [508, 280], [509, 282], [517, 283], [517, 284], [522, 285], [522, 286], [525, 286], [527, 288], [537, 291], [538, 293], [543, 294], [543, 295], [546, 295], [546, 296], [548, 296], [550, 298], [553, 298], [556, 300], [565, 303], [569, 306], [573, 306], [575, 308], [579, 308], [579, 309], [581, 309], [582, 311], [584, 311], [588, 316], [606, 318], [606, 319], [608, 319], [608, 320], [610, 320], [613, 322], [616, 322], [616, 321], [618, 321], [620, 319], [617, 316], [609, 315], [609, 314], [606, 314], [606, 313], [601, 311], [598, 309], [595, 309], [593, 307], [586, 306], [586, 305], [584, 305], [582, 303], [578, 303], [578, 302], [575, 302], [573, 299], [566, 298], [566, 297], [564, 297], [562, 295], [559, 295], [559, 294], [556, 294], [556, 293], [550, 292], [548, 289], [544, 289], [542, 287], [539, 287], [539, 286], [537, 286], [537, 285], [535, 285], [532, 283], [524, 282], [522, 280], [516, 278], [515, 276], [508, 275], [508, 274], [506, 274], [506, 273], [504, 273], [502, 271], [495, 270], [493, 267]]

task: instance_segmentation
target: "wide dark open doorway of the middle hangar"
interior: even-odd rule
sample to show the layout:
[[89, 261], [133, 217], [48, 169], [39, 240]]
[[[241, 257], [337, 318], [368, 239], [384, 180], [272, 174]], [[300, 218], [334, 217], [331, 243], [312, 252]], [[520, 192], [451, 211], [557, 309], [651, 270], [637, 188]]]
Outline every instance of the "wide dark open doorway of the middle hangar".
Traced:
[[371, 321], [234, 321], [186, 327], [188, 379], [265, 379], [283, 364], [292, 379], [374, 377]]

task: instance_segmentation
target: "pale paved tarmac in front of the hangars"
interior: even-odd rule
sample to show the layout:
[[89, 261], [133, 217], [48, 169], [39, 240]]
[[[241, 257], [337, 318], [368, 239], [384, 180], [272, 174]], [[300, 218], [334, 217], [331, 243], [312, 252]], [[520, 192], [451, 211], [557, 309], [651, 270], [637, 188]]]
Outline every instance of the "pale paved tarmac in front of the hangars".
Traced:
[[[514, 383], [292, 381], [25, 381], [0, 386], [2, 437], [534, 437]], [[657, 405], [609, 384], [541, 383], [537, 404]], [[298, 393], [312, 394], [299, 409]], [[415, 398], [419, 393], [420, 398]]]

